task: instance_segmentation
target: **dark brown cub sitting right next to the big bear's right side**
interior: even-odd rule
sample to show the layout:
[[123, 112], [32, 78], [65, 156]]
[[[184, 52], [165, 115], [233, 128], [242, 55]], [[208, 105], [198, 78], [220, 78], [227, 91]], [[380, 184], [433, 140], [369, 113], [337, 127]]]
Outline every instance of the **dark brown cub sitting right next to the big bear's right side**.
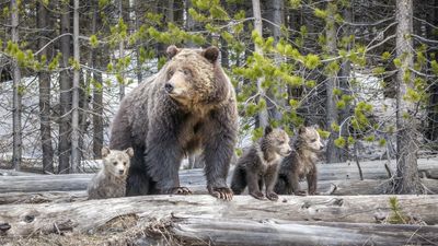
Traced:
[[239, 159], [231, 180], [231, 189], [234, 194], [241, 194], [246, 185], [251, 196], [264, 199], [261, 191], [265, 184], [266, 198], [278, 200], [274, 192], [277, 180], [278, 167], [284, 156], [290, 153], [289, 137], [281, 129], [267, 127], [265, 134], [255, 142]]

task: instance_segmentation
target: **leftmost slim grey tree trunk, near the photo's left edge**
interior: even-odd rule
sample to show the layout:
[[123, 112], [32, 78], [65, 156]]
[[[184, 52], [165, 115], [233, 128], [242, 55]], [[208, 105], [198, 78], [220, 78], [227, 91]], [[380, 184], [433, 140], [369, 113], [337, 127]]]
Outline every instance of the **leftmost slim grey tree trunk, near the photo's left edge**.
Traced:
[[[16, 0], [11, 0], [11, 37], [12, 43], [19, 44], [19, 3]], [[21, 87], [21, 71], [19, 61], [12, 59], [13, 69], [13, 153], [12, 165], [13, 168], [20, 171], [22, 159], [22, 128], [21, 128], [21, 112], [22, 112], [22, 87]]]

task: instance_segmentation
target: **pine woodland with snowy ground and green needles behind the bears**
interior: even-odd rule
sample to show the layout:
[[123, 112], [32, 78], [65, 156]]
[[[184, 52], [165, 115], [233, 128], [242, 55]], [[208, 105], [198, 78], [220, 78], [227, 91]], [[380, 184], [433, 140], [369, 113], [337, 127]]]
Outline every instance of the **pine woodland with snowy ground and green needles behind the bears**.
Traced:
[[323, 162], [395, 159], [393, 191], [423, 191], [417, 156], [438, 150], [438, 0], [1, 0], [0, 11], [2, 166], [83, 172], [169, 45], [216, 45], [239, 101], [238, 155], [268, 124], [290, 134], [318, 124]]

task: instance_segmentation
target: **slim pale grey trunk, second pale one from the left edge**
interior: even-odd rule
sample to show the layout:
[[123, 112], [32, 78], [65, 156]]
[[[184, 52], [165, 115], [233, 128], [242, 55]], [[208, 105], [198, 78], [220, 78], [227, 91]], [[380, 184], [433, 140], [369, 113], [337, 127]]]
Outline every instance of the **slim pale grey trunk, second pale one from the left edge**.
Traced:
[[[74, 0], [73, 7], [73, 59], [80, 62], [79, 57], [79, 0]], [[80, 68], [73, 68], [73, 97], [71, 117], [71, 172], [78, 173], [81, 163], [79, 149], [79, 80]]]

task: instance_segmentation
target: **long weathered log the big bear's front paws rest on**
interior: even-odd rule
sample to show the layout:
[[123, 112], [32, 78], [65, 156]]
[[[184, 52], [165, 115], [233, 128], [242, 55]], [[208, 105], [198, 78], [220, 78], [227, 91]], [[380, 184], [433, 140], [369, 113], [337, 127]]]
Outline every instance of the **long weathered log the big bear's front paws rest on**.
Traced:
[[[279, 202], [235, 196], [230, 202], [211, 196], [143, 196], [70, 203], [0, 206], [0, 223], [10, 236], [53, 233], [59, 227], [89, 232], [117, 216], [161, 220], [175, 216], [374, 223], [390, 213], [390, 196], [280, 196]], [[402, 212], [427, 224], [438, 223], [438, 196], [396, 196]]]

